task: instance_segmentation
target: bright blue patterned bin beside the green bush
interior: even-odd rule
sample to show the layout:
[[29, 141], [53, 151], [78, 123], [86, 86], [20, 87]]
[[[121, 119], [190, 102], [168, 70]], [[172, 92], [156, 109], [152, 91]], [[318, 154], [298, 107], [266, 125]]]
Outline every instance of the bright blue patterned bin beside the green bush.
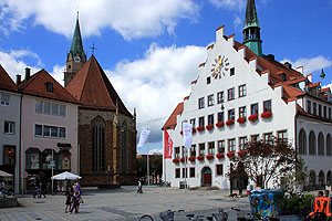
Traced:
[[251, 191], [249, 196], [251, 214], [259, 219], [279, 217], [283, 194], [283, 189]]

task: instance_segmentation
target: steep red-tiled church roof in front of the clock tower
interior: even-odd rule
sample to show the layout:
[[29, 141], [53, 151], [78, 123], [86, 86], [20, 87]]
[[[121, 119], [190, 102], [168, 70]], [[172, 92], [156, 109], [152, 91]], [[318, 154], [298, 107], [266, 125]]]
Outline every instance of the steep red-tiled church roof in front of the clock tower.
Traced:
[[132, 117], [94, 55], [65, 88], [81, 102], [83, 107], [115, 110], [117, 102], [120, 113]]

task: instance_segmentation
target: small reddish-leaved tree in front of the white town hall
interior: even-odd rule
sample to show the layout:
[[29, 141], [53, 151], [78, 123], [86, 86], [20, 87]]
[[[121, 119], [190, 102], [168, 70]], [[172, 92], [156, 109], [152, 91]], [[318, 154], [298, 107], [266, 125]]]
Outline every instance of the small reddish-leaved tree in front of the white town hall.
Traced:
[[264, 189], [270, 180], [279, 180], [295, 168], [295, 150], [286, 139], [249, 141], [245, 149], [230, 158], [232, 168], [228, 177], [245, 171]]

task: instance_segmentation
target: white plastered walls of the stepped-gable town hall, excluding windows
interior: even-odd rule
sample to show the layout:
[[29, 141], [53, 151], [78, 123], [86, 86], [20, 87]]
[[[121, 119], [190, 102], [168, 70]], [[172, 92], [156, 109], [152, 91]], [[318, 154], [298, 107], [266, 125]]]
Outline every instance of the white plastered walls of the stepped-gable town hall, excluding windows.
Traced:
[[[248, 51], [247, 51], [248, 50]], [[251, 52], [252, 53], [252, 52]], [[206, 171], [211, 172], [211, 186], [219, 187], [221, 189], [229, 188], [229, 180], [225, 176], [229, 170], [229, 158], [227, 154], [229, 152], [229, 147], [232, 140], [235, 140], [235, 152], [240, 150], [240, 139], [245, 137], [247, 140], [251, 139], [251, 136], [259, 135], [260, 139], [264, 139], [266, 134], [272, 134], [278, 137], [282, 133], [282, 136], [291, 141], [293, 146], [297, 145], [295, 133], [299, 134], [301, 128], [305, 129], [307, 136], [309, 136], [310, 130], [315, 131], [315, 137], [318, 139], [319, 131], [322, 130], [324, 138], [329, 131], [332, 131], [331, 127], [331, 116], [330, 119], [312, 119], [307, 116], [298, 116], [298, 106], [307, 109], [304, 98], [301, 99], [284, 99], [286, 88], [283, 85], [278, 85], [278, 82], [273, 82], [274, 86], [271, 86], [272, 72], [274, 70], [262, 69], [258, 64], [258, 57], [250, 59], [248, 56], [249, 49], [235, 42], [235, 36], [225, 36], [225, 28], [221, 27], [216, 31], [216, 41], [212, 45], [207, 49], [207, 60], [205, 63], [199, 65], [199, 73], [197, 81], [191, 84], [191, 93], [184, 101], [184, 109], [181, 114], [177, 115], [175, 128], [166, 128], [173, 139], [173, 158], [165, 160], [164, 179], [166, 175], [166, 180], [170, 181], [173, 187], [179, 187], [180, 182], [185, 180], [184, 178], [184, 162], [175, 164], [174, 158], [183, 157], [183, 136], [181, 123], [188, 122], [193, 123], [195, 119], [194, 127], [199, 126], [199, 117], [204, 117], [203, 131], [197, 131], [193, 134], [193, 145], [196, 146], [196, 158], [199, 155], [199, 145], [205, 144], [205, 157], [204, 160], [189, 161], [187, 164], [187, 185], [189, 187], [200, 187], [205, 186], [204, 173]], [[218, 66], [218, 62], [222, 60], [221, 71], [217, 78], [215, 78], [215, 70]], [[226, 62], [225, 62], [226, 61]], [[262, 59], [260, 59], [262, 61]], [[267, 65], [268, 66], [268, 65]], [[215, 70], [214, 70], [215, 69]], [[234, 69], [234, 75], [231, 75]], [[259, 70], [259, 71], [258, 71]], [[292, 70], [292, 73], [294, 70]], [[273, 73], [277, 74], [277, 73]], [[214, 76], [212, 76], [214, 75]], [[301, 75], [301, 73], [298, 73]], [[302, 76], [303, 77], [303, 76]], [[300, 84], [303, 87], [304, 84]], [[241, 95], [240, 95], [241, 86]], [[234, 88], [235, 96], [234, 99], [229, 99], [229, 90]], [[243, 90], [245, 88], [245, 90]], [[301, 91], [299, 85], [298, 91]], [[304, 87], [302, 88], [304, 90]], [[218, 93], [224, 92], [224, 101], [218, 103]], [[209, 96], [212, 95], [212, 99], [209, 102]], [[210, 96], [211, 97], [211, 96]], [[204, 107], [199, 108], [199, 99], [204, 98]], [[211, 103], [212, 101], [212, 103]], [[270, 118], [261, 118], [261, 113], [264, 112], [263, 103], [271, 101], [271, 112], [272, 116]], [[318, 99], [320, 101], [320, 99]], [[331, 107], [331, 103], [323, 102], [326, 108]], [[253, 113], [251, 105], [258, 104], [258, 120], [248, 120], [248, 117]], [[246, 107], [245, 117], [247, 120], [243, 124], [239, 124], [237, 119], [240, 117], [240, 107]], [[222, 127], [217, 127], [218, 113], [222, 112], [224, 108], [224, 123], [229, 119], [229, 110], [235, 110], [235, 124]], [[206, 126], [209, 124], [209, 115], [214, 115], [214, 128], [207, 129]], [[325, 122], [322, 124], [322, 122]], [[322, 126], [323, 125], [323, 126]], [[297, 130], [297, 131], [295, 131]], [[283, 137], [286, 138], [286, 137]], [[218, 154], [218, 141], [225, 140], [225, 157], [218, 159], [216, 155]], [[209, 143], [214, 143], [214, 152], [209, 151]], [[309, 146], [309, 138], [307, 141]], [[325, 146], [329, 146], [326, 141]], [[175, 156], [175, 149], [180, 147], [180, 156]], [[331, 144], [330, 147], [331, 148]], [[165, 149], [165, 148], [164, 148]], [[326, 147], [325, 147], [326, 149]], [[208, 160], [206, 158], [207, 154], [212, 154], [212, 159]], [[308, 154], [308, 150], [307, 150]], [[188, 154], [190, 157], [190, 154]], [[301, 155], [302, 156], [302, 155]], [[313, 169], [317, 175], [320, 170], [324, 171], [326, 177], [328, 171], [332, 167], [331, 156], [304, 156], [307, 166], [309, 169]], [[218, 166], [221, 165], [221, 166]], [[217, 167], [222, 167], [222, 171], [217, 175]], [[191, 169], [190, 169], [191, 168]], [[208, 169], [207, 169], [208, 168]], [[176, 170], [180, 170], [180, 177], [176, 176]], [[191, 172], [190, 172], [191, 170]], [[195, 172], [194, 172], [195, 170]], [[326, 180], [326, 178], [325, 178]], [[271, 183], [269, 183], [271, 185]]]

